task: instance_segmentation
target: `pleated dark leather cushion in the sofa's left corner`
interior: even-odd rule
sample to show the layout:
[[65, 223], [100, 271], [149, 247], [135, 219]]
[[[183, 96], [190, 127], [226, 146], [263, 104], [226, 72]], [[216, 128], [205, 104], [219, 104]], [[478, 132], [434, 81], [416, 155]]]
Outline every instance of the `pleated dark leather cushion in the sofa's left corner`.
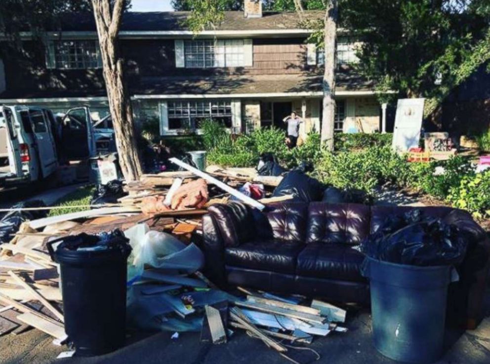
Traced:
[[225, 247], [238, 247], [253, 237], [254, 221], [248, 205], [242, 202], [215, 204], [207, 211], [216, 221]]

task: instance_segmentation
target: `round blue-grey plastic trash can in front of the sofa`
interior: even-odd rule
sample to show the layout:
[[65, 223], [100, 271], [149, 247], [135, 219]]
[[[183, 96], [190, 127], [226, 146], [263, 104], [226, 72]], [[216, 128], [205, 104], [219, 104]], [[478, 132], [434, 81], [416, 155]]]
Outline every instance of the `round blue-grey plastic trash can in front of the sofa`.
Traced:
[[442, 356], [451, 270], [366, 257], [372, 334], [381, 354], [407, 363], [433, 363]]

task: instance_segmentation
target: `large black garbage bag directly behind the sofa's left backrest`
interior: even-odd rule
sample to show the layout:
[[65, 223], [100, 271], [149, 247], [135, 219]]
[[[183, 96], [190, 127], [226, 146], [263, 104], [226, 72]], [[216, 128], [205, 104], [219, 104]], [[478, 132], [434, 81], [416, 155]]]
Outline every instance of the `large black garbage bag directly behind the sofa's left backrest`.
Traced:
[[273, 197], [293, 195], [288, 201], [321, 201], [325, 186], [302, 172], [292, 171], [284, 176], [274, 190]]

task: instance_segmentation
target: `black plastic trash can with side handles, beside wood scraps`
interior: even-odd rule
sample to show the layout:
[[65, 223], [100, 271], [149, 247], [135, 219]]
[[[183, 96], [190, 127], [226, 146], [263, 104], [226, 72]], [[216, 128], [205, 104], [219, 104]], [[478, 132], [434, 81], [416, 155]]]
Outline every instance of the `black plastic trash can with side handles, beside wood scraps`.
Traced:
[[[103, 247], [77, 250], [93, 235], [68, 236], [48, 243], [60, 264], [65, 332], [77, 356], [102, 355], [121, 348], [125, 340], [126, 271], [131, 252], [122, 233]], [[61, 243], [53, 251], [52, 245]]]

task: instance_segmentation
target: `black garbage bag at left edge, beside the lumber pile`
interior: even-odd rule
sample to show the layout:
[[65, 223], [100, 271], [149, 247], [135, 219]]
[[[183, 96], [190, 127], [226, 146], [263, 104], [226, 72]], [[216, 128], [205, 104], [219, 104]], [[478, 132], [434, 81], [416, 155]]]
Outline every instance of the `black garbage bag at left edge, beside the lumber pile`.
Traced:
[[[46, 205], [41, 200], [20, 202], [12, 207], [12, 209], [22, 209], [29, 207], [45, 207]], [[0, 220], [0, 243], [8, 243], [12, 240], [12, 234], [15, 234], [20, 227], [20, 224], [27, 220], [36, 220], [45, 218], [48, 210], [29, 210], [29, 211], [12, 211], [5, 215]]]

